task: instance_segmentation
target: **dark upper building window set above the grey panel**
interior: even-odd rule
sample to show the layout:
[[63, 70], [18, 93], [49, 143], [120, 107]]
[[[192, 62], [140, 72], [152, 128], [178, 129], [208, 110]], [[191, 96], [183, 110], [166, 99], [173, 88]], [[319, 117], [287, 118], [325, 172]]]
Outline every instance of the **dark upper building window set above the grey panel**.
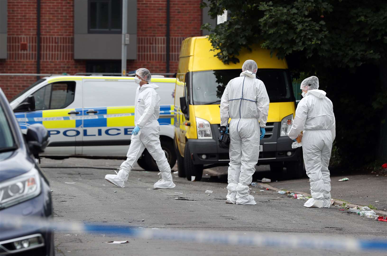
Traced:
[[122, 1], [89, 0], [89, 33], [121, 33]]

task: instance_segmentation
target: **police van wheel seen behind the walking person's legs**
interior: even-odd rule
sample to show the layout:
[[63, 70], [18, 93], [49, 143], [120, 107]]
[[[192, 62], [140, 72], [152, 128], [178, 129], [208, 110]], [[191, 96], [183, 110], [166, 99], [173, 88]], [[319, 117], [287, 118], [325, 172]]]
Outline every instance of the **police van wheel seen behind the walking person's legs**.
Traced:
[[[173, 166], [175, 166], [176, 164], [176, 152], [173, 148], [173, 145], [171, 144], [172, 143], [170, 143], [168, 140], [161, 140], [161, 148], [165, 153], [165, 156], [168, 160], [168, 164], [171, 168], [173, 168]], [[159, 171], [159, 167], [157, 167], [156, 161], [146, 149], [144, 150], [144, 152], [142, 152], [141, 158], [137, 160], [137, 164], [146, 171]]]

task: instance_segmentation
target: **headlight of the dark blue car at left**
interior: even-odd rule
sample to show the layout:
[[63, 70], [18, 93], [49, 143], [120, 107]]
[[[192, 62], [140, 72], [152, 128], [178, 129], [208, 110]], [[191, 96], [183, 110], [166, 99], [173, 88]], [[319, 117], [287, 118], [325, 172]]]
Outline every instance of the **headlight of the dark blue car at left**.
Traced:
[[0, 208], [7, 208], [39, 195], [40, 176], [35, 168], [10, 181], [0, 183]]

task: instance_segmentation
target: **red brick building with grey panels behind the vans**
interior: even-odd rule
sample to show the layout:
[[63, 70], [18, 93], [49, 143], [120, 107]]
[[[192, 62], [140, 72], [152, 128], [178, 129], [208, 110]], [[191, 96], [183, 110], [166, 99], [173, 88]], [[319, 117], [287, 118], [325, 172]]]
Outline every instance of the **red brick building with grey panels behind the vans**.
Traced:
[[[128, 0], [128, 72], [175, 73], [182, 40], [212, 22], [200, 2]], [[120, 73], [121, 14], [122, 0], [0, 0], [0, 73]], [[36, 79], [0, 76], [0, 87], [11, 99]]]

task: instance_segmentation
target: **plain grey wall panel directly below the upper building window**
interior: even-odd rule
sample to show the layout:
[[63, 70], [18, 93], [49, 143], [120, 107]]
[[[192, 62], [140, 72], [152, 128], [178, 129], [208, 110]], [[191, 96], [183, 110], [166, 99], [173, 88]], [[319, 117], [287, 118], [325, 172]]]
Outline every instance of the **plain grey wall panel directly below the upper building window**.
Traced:
[[[121, 60], [121, 34], [75, 34], [74, 59]], [[137, 34], [130, 34], [127, 59], [137, 55]]]

